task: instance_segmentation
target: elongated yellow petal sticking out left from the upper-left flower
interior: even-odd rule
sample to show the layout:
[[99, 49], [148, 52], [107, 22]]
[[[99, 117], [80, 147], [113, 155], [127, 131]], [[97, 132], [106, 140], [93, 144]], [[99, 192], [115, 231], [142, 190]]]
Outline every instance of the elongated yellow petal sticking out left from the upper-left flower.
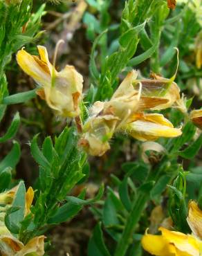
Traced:
[[42, 60], [39, 60], [38, 57], [30, 55], [22, 49], [17, 52], [17, 63], [38, 84], [50, 84], [51, 79], [48, 66]]

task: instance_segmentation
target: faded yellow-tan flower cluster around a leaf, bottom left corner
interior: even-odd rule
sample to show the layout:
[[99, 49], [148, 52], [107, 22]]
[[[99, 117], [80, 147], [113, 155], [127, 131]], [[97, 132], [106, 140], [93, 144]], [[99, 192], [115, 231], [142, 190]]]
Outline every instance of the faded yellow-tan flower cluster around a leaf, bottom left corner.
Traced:
[[[24, 255], [44, 255], [44, 235], [30, 239], [27, 244], [23, 244], [8, 230], [5, 225], [6, 210], [12, 206], [19, 185], [11, 190], [0, 194], [0, 248], [2, 255], [5, 256], [24, 256]], [[28, 188], [26, 192], [26, 204], [24, 217], [30, 213], [30, 207], [34, 198], [33, 188]]]

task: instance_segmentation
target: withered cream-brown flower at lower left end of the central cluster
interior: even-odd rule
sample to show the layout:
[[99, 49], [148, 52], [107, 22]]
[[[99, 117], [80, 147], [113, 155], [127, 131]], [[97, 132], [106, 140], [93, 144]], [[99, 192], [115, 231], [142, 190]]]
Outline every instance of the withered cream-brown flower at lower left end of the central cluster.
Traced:
[[118, 118], [113, 115], [92, 117], [83, 127], [79, 145], [92, 156], [102, 156], [110, 149], [109, 140], [113, 136]]

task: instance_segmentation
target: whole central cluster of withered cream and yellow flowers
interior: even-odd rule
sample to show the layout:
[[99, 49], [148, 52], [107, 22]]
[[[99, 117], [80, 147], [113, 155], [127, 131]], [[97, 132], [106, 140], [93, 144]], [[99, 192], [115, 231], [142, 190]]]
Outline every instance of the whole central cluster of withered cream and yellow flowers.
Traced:
[[174, 77], [165, 79], [153, 74], [153, 79], [138, 80], [131, 71], [111, 100], [95, 102], [91, 116], [84, 123], [79, 144], [93, 156], [102, 156], [110, 148], [109, 140], [115, 132], [125, 132], [138, 140], [156, 140], [159, 137], [181, 135], [162, 114], [145, 113], [177, 107], [185, 112], [185, 104]]

